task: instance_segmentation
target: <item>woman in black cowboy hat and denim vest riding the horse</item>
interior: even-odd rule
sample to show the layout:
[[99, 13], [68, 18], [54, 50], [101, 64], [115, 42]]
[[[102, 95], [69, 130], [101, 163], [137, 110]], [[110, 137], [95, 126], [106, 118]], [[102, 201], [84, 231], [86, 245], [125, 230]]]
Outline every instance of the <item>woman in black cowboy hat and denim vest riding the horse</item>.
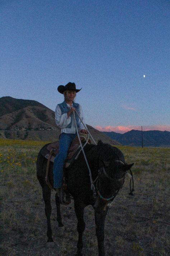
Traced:
[[[61, 134], [59, 137], [59, 152], [54, 160], [53, 179], [54, 188], [57, 189], [57, 194], [62, 204], [70, 202], [70, 198], [66, 197], [62, 189], [62, 180], [63, 165], [67, 157], [67, 152], [76, 137], [76, 127], [72, 112], [76, 110], [81, 120], [84, 120], [81, 105], [74, 101], [76, 93], [81, 89], [76, 89], [75, 83], [72, 82], [69, 82], [65, 86], [60, 85], [57, 88], [58, 92], [64, 95], [64, 101], [57, 105], [55, 111], [55, 121], [57, 126], [61, 128]], [[76, 125], [81, 133], [88, 133], [87, 127], [82, 124], [77, 115]]]

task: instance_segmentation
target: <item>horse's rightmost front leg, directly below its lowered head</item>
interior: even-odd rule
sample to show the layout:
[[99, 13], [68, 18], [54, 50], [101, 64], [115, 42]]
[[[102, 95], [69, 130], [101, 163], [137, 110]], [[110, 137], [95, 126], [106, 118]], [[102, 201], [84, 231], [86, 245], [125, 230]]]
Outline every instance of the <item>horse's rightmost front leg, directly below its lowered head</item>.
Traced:
[[96, 224], [96, 236], [98, 239], [99, 256], [105, 256], [104, 250], [104, 223], [108, 212], [108, 207], [105, 211], [95, 211], [95, 224]]

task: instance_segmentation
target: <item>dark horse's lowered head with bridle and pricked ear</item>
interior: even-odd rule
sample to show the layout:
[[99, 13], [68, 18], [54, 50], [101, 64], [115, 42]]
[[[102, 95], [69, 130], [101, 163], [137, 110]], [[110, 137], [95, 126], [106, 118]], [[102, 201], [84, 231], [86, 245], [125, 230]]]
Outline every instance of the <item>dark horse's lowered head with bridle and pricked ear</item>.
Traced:
[[[103, 144], [104, 145], [104, 144]], [[116, 149], [116, 154], [115, 154]], [[131, 169], [133, 163], [128, 165], [122, 158], [122, 152], [117, 148], [110, 148], [113, 156], [103, 160], [101, 156], [99, 167], [99, 178], [97, 183], [98, 196], [95, 201], [95, 211], [104, 211], [109, 202], [113, 201], [118, 191], [122, 188], [126, 172]], [[119, 159], [119, 155], [123, 160]], [[108, 156], [108, 154], [107, 154]]]

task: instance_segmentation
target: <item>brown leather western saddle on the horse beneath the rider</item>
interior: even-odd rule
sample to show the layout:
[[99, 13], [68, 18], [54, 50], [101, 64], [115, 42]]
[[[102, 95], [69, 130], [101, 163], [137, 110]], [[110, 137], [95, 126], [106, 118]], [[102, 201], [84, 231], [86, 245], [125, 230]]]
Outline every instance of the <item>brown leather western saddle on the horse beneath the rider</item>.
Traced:
[[[80, 136], [82, 145], [91, 144], [89, 135], [79, 133], [79, 136]], [[81, 145], [79, 142], [79, 138], [76, 137], [73, 140], [73, 142], [69, 148], [69, 151], [67, 153], [66, 166], [65, 166], [66, 168], [69, 167], [70, 164], [79, 156], [80, 151], [81, 151]], [[56, 142], [52, 142], [52, 143], [48, 144], [47, 148], [44, 148], [44, 150], [41, 152], [41, 154], [42, 154], [42, 156], [44, 156], [47, 159], [50, 157], [50, 161], [54, 162], [54, 158], [58, 154], [58, 152], [59, 152], [59, 142], [56, 141]]]

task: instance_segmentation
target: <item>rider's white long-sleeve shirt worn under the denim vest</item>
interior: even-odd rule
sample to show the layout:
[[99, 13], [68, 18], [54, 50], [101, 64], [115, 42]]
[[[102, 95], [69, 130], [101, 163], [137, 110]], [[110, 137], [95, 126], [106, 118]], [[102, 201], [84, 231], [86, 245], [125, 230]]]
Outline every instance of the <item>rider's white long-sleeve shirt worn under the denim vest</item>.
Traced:
[[[72, 107], [72, 106], [70, 107], [69, 104], [67, 104], [67, 106], [69, 108]], [[75, 113], [75, 115], [76, 115], [76, 113]], [[82, 107], [80, 104], [79, 104], [79, 116], [85, 124]], [[69, 123], [71, 122], [71, 120], [72, 120], [71, 128], [66, 128], [67, 125], [69, 125]], [[74, 118], [71, 118], [71, 116], [67, 117], [67, 113], [61, 114], [61, 109], [58, 105], [57, 105], [56, 111], [55, 111], [55, 121], [56, 121], [56, 125], [61, 128], [61, 133], [73, 133], [73, 134], [76, 133]], [[81, 130], [81, 129], [87, 129], [87, 127], [84, 127], [84, 125], [82, 124], [82, 122], [79, 119], [78, 130]]]

